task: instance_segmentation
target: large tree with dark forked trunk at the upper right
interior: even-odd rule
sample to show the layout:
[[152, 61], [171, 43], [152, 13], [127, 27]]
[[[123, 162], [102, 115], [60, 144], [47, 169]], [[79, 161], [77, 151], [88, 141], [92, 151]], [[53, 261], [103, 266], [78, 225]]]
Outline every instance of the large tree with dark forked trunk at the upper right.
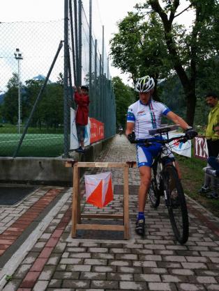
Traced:
[[[188, 124], [193, 125], [197, 100], [195, 91], [197, 65], [199, 61], [202, 61], [202, 58], [216, 54], [218, 51], [218, 41], [214, 41], [214, 37], [211, 37], [212, 24], [214, 20], [218, 20], [218, 3], [215, 0], [190, 0], [188, 7], [180, 13], [176, 12], [180, 6], [179, 0], [165, 0], [163, 3], [165, 4], [164, 8], [160, 6], [159, 0], [149, 0], [144, 7], [151, 6], [153, 12], [156, 12], [163, 22], [168, 53], [186, 95], [186, 120]], [[185, 33], [184, 45], [181, 47], [179, 45], [181, 40], [173, 31], [173, 22], [177, 16], [189, 8], [195, 12], [195, 21], [192, 24], [192, 31]], [[215, 46], [214, 52], [212, 52], [212, 43]], [[187, 68], [190, 72], [189, 75], [186, 72]]]

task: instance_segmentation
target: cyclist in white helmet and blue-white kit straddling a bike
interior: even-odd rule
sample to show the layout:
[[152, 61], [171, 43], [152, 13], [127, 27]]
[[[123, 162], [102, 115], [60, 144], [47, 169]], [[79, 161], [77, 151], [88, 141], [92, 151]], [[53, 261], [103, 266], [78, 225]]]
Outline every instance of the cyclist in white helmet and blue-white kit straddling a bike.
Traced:
[[[193, 139], [197, 132], [186, 123], [181, 117], [170, 111], [165, 104], [153, 100], [154, 80], [146, 76], [137, 80], [135, 91], [139, 93], [139, 100], [130, 105], [127, 113], [126, 136], [130, 142], [154, 137], [149, 135], [149, 130], [160, 127], [162, 116], [166, 116], [175, 124], [178, 124], [186, 132], [188, 139]], [[158, 155], [161, 148], [160, 143], [154, 142], [149, 147], [137, 144], [137, 165], [140, 174], [140, 186], [138, 192], [138, 215], [135, 231], [138, 235], [144, 235], [145, 217], [144, 207], [146, 204], [147, 192], [151, 183], [151, 165], [153, 157]], [[174, 156], [171, 157], [171, 162]]]

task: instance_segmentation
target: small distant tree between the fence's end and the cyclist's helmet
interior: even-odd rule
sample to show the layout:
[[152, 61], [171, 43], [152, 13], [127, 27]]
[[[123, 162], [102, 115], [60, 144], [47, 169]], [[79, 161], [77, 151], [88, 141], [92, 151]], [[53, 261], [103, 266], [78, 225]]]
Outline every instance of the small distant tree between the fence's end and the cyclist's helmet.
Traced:
[[135, 93], [132, 88], [123, 84], [120, 77], [112, 78], [112, 87], [116, 100], [116, 124], [126, 127], [126, 113], [128, 106], [135, 102]]

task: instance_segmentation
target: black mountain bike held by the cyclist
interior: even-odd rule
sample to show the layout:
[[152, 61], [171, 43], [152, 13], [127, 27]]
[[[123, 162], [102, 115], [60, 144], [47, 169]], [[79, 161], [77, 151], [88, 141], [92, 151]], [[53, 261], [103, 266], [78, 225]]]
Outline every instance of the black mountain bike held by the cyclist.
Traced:
[[[176, 125], [170, 125], [149, 130], [149, 134], [155, 136], [153, 142], [162, 145], [158, 156], [153, 159], [151, 167], [149, 199], [152, 207], [157, 208], [160, 204], [160, 196], [164, 196], [174, 235], [180, 244], [185, 244], [189, 235], [188, 210], [175, 163], [169, 158], [172, 155], [172, 145], [169, 143], [176, 140], [186, 143], [188, 139], [185, 135], [169, 139], [169, 132], [176, 128], [178, 128]], [[146, 147], [152, 144], [150, 139], [135, 141], [135, 143]]]

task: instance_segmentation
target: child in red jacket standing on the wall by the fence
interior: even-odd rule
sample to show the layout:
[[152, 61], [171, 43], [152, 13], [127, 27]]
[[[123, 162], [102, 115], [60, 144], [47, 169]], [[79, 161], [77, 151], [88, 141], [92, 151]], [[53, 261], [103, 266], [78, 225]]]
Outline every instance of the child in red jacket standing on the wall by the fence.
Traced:
[[[74, 87], [76, 90], [76, 87]], [[89, 87], [81, 86], [77, 87], [74, 95], [75, 103], [77, 104], [76, 111], [76, 128], [77, 128], [77, 139], [80, 143], [80, 147], [77, 148], [76, 152], [84, 152], [84, 137], [85, 137], [85, 126], [88, 124], [89, 116]]]

